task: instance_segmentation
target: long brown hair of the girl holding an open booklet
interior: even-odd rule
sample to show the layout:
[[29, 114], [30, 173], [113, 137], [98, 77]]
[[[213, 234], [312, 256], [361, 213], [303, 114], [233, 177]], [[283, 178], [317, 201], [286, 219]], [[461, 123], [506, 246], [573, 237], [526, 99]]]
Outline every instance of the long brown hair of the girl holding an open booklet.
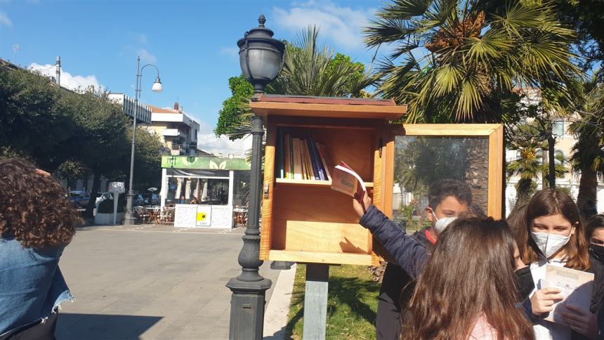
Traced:
[[575, 233], [570, 235], [570, 240], [563, 247], [568, 258], [565, 267], [577, 270], [589, 269], [589, 242], [579, 209], [572, 197], [560, 190], [544, 189], [537, 192], [519, 214], [516, 242], [518, 242], [520, 259], [525, 264], [539, 261], [539, 247], [531, 237], [533, 220], [541, 216], [560, 214], [575, 227]]

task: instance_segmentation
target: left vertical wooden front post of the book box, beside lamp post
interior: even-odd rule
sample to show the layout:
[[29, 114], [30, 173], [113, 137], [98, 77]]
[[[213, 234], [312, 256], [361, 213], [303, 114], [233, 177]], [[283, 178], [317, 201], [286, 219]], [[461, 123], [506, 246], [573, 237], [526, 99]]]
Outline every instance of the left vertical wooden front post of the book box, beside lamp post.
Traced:
[[[260, 259], [268, 259], [268, 251], [273, 235], [273, 182], [275, 181], [275, 142], [277, 128], [275, 124], [265, 121], [268, 128], [264, 153], [264, 182], [262, 193], [262, 231], [260, 233]], [[264, 186], [268, 185], [268, 197], [264, 197]]]

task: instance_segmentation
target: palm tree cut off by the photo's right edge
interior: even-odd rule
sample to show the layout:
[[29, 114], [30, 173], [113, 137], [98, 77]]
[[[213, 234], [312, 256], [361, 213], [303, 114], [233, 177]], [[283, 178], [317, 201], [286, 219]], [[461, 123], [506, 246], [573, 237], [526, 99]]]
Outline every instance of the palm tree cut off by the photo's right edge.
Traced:
[[577, 137], [571, 162], [581, 173], [577, 206], [584, 218], [596, 212], [598, 177], [604, 179], [604, 84], [600, 71], [583, 83], [583, 96], [577, 105], [579, 119], [570, 131]]

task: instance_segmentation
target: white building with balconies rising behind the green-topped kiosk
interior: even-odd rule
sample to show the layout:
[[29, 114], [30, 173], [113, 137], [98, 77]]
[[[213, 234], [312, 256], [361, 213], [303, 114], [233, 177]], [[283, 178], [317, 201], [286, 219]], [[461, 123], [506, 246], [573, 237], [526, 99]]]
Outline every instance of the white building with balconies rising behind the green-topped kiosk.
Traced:
[[199, 155], [197, 132], [199, 123], [183, 112], [183, 107], [174, 103], [173, 109], [150, 105], [151, 124], [147, 129], [155, 133], [171, 155]]

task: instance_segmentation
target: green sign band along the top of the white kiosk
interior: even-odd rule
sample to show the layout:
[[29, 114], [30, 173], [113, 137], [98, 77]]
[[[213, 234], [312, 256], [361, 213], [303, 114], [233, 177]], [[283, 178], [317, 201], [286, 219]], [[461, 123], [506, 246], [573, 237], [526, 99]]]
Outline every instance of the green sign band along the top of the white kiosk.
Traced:
[[162, 156], [162, 168], [249, 170], [249, 164], [242, 158]]

